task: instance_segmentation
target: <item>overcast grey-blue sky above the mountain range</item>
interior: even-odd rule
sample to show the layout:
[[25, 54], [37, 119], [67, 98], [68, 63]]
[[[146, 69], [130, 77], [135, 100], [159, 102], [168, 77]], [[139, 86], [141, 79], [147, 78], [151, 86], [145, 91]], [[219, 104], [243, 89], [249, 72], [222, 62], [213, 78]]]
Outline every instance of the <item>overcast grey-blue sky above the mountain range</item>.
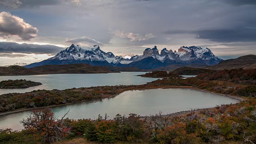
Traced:
[[256, 0], [0, 0], [0, 65], [38, 62], [72, 43], [122, 56], [154, 45], [256, 54]]

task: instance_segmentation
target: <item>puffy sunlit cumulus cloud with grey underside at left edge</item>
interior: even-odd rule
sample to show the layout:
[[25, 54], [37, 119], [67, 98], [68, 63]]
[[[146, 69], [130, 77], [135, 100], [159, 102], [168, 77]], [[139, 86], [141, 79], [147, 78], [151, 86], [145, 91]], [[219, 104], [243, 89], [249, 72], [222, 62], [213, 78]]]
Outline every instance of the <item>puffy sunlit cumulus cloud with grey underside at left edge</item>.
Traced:
[[26, 23], [22, 18], [10, 12], [0, 13], [0, 37], [18, 36], [21, 40], [30, 40], [37, 36], [38, 30]]

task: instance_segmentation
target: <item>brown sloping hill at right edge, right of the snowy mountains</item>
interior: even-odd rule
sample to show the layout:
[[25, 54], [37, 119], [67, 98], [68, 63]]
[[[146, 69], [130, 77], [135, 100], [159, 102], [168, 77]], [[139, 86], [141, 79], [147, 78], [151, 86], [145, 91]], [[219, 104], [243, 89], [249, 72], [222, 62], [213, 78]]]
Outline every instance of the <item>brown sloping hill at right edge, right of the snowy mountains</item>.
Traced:
[[250, 54], [234, 59], [224, 60], [219, 64], [207, 66], [206, 68], [211, 70], [229, 70], [236, 68], [253, 69], [256, 68], [256, 55]]

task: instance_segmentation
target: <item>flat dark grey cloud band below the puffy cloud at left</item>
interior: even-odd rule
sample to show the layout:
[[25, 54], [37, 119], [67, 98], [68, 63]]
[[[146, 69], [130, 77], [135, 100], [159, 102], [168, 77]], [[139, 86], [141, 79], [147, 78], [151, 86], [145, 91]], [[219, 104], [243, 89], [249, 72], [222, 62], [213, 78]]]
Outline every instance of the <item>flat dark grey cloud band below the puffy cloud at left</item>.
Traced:
[[55, 55], [64, 48], [52, 45], [17, 44], [15, 42], [0, 42], [1, 54], [48, 54]]

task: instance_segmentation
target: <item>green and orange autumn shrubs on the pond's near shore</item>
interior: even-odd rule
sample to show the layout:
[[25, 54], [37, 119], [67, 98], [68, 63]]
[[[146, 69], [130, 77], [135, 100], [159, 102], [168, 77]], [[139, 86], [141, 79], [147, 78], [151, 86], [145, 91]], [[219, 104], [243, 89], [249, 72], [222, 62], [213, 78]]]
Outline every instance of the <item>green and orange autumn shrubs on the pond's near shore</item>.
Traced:
[[[113, 119], [56, 119], [50, 109], [36, 110], [21, 121], [21, 132], [0, 130], [1, 144], [52, 143], [73, 138], [103, 143], [202, 144], [256, 142], [256, 98], [182, 116], [136, 114]], [[61, 142], [62, 143], [62, 142]], [[79, 143], [79, 142], [78, 142]], [[69, 142], [68, 144], [76, 144]]]

